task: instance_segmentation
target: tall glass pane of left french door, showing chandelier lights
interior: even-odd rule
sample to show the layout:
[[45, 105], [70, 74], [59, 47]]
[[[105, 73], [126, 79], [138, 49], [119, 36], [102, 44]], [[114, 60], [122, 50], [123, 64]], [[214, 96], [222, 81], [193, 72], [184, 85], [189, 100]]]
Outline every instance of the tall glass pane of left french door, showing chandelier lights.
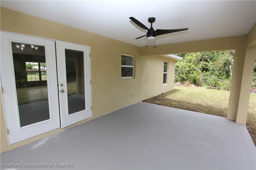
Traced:
[[20, 127], [50, 119], [44, 50], [12, 42]]

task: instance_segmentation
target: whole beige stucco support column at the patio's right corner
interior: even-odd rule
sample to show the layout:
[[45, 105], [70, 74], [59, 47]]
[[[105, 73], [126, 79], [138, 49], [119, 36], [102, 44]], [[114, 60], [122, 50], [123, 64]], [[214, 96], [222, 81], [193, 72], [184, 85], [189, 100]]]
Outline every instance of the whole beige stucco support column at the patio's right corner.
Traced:
[[236, 48], [227, 119], [246, 125], [254, 62], [256, 58], [256, 23]]

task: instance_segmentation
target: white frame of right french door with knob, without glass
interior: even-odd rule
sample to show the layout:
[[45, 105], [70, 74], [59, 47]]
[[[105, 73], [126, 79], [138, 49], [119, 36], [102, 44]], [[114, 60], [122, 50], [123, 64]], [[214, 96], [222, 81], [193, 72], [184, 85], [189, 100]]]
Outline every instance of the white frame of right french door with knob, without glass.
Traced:
[[[85, 110], [68, 114], [68, 95], [66, 79], [66, 57], [65, 49], [82, 51], [84, 54], [84, 90], [85, 90]], [[64, 41], [56, 41], [56, 57], [58, 69], [58, 87], [60, 102], [60, 121], [61, 127], [72, 125], [84, 119], [92, 117], [91, 102], [91, 74], [90, 74], [90, 47], [78, 45]], [[60, 84], [63, 84], [60, 86]], [[64, 90], [61, 92], [61, 90]]]

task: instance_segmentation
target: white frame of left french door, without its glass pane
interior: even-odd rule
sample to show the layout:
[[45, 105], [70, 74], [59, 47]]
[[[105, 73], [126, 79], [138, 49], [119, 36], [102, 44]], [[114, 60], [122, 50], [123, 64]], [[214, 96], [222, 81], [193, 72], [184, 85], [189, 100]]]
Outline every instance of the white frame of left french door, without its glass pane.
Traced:
[[[1, 82], [9, 145], [46, 133], [60, 127], [55, 41], [15, 33], [1, 35]], [[11, 42], [42, 45], [45, 47], [47, 87], [50, 119], [20, 127]], [[57, 113], [57, 114], [56, 114]]]

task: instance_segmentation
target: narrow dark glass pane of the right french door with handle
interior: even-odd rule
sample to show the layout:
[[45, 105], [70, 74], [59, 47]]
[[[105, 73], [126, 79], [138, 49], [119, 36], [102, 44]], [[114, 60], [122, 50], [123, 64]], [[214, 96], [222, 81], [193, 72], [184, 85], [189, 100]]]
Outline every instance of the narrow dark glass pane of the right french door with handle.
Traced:
[[68, 114], [85, 109], [84, 52], [65, 49]]

